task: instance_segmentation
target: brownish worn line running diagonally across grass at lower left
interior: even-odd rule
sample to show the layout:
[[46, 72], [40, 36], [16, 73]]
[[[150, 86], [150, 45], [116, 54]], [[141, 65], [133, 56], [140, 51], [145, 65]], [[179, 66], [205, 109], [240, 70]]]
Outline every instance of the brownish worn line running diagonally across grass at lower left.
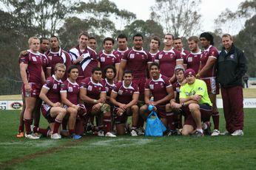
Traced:
[[10, 169], [10, 167], [16, 166], [19, 163], [24, 163], [27, 160], [32, 160], [35, 159], [37, 157], [41, 157], [44, 155], [48, 155], [51, 154], [53, 152], [58, 152], [61, 149], [65, 149], [66, 147], [69, 146], [74, 146], [74, 144], [80, 144], [81, 142], [85, 142], [85, 141], [90, 141], [90, 139], [95, 138], [95, 136], [83, 136], [83, 138], [81, 138], [81, 140], [75, 140], [75, 141], [70, 141], [66, 144], [63, 144], [61, 146], [54, 146], [52, 148], [46, 149], [44, 151], [41, 152], [36, 152], [33, 154], [29, 154], [29, 155], [24, 155], [23, 157], [14, 157], [11, 160], [6, 160], [3, 163], [0, 164], [0, 169]]

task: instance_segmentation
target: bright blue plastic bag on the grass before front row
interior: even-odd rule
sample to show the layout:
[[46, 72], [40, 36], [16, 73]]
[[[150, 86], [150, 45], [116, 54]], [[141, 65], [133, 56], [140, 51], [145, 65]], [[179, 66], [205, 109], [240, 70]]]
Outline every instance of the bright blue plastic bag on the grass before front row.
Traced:
[[152, 111], [146, 118], [146, 136], [163, 136], [163, 132], [166, 131], [166, 127], [162, 121], [158, 118], [155, 111]]

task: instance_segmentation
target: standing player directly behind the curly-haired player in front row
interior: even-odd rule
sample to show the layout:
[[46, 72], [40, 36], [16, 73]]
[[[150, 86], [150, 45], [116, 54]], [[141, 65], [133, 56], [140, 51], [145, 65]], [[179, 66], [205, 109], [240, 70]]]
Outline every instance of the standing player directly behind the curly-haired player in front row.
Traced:
[[[112, 52], [114, 43], [115, 41], [113, 40], [113, 38], [105, 38], [103, 40], [104, 50], [98, 53], [98, 60], [101, 65], [101, 71], [104, 71], [104, 68], [107, 65], [113, 65], [115, 67], [115, 70], [118, 71], [120, 60], [119, 57], [117, 57]], [[105, 75], [103, 75], [103, 78], [105, 78]]]

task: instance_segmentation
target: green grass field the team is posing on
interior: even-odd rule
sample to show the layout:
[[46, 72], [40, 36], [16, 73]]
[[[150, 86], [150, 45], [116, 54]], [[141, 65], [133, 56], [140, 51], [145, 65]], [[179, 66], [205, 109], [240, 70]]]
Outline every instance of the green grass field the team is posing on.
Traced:
[[[0, 169], [255, 169], [256, 110], [245, 110], [244, 136], [146, 138], [84, 136], [38, 141], [15, 137], [18, 110], [0, 111]], [[41, 127], [46, 121], [41, 118]], [[220, 130], [224, 130], [220, 110]]]

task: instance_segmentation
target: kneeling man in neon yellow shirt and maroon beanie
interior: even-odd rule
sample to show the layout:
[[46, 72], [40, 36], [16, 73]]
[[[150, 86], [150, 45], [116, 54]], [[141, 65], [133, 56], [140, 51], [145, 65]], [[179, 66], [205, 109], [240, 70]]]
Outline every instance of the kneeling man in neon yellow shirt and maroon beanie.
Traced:
[[187, 115], [182, 135], [203, 136], [201, 122], [209, 121], [212, 116], [212, 102], [207, 93], [206, 83], [195, 79], [195, 71], [185, 71], [186, 84], [181, 86], [180, 102], [172, 102], [172, 107], [181, 108]]

